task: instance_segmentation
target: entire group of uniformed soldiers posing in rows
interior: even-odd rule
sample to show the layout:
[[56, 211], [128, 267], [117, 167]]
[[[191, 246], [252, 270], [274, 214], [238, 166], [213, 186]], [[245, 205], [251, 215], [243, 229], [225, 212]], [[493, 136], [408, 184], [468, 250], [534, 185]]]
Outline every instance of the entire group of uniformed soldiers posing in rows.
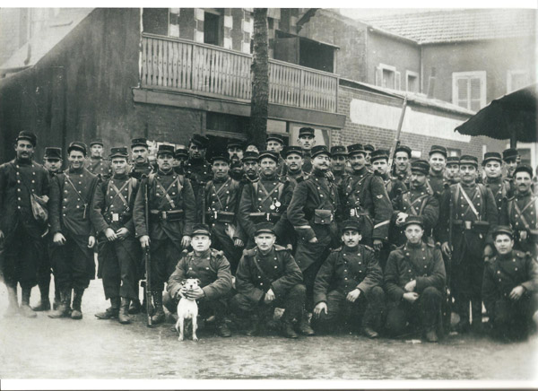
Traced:
[[[90, 151], [70, 143], [65, 168], [56, 147], [43, 166], [34, 161], [37, 142], [22, 131], [15, 159], [0, 166], [6, 316], [52, 309], [48, 317], [81, 319], [95, 253], [110, 301], [95, 316], [121, 324], [141, 310], [160, 324], [181, 298], [196, 300], [221, 336], [233, 319], [260, 333], [275, 308], [290, 338], [336, 326], [437, 342], [451, 312], [459, 333], [482, 332], [484, 315], [499, 337], [538, 322], [538, 197], [515, 149], [486, 152], [482, 178], [476, 157], [443, 146], [412, 161], [398, 145], [391, 165], [370, 144], [316, 145], [310, 127], [297, 146], [278, 134], [263, 151], [213, 145], [210, 161], [197, 134], [187, 146], [159, 145], [153, 162], [144, 138], [108, 159], [101, 140]], [[199, 287], [187, 289], [187, 278]]]

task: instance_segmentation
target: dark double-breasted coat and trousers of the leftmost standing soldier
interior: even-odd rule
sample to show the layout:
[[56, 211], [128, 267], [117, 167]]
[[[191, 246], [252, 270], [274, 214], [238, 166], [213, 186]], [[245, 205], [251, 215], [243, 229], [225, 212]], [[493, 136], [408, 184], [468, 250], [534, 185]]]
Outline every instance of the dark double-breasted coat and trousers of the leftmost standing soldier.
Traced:
[[34, 219], [30, 192], [48, 196], [47, 169], [33, 161], [13, 160], [0, 166], [0, 230], [4, 232], [4, 282], [22, 288], [36, 285], [40, 255], [46, 248], [41, 235], [45, 222]]

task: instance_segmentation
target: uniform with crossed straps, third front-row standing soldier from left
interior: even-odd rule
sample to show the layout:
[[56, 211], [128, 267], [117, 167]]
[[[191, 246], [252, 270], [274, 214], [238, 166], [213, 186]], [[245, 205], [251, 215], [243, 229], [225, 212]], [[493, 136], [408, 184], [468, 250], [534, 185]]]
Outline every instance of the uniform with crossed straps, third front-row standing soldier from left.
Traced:
[[[100, 267], [98, 276], [103, 279], [105, 297], [138, 299], [137, 268], [141, 248], [134, 238], [133, 207], [139, 182], [127, 175], [114, 175], [97, 187], [92, 204], [92, 222], [100, 240]], [[126, 228], [125, 239], [108, 241], [107, 229], [115, 232]]]

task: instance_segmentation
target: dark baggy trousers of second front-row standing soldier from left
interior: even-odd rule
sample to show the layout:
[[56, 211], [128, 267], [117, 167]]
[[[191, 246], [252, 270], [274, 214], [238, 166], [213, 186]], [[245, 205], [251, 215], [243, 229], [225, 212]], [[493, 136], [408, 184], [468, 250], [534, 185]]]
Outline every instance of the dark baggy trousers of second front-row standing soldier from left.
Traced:
[[56, 282], [60, 290], [84, 290], [95, 278], [93, 249], [88, 248], [87, 236], [64, 234], [65, 244], [54, 246], [52, 259], [56, 267]]

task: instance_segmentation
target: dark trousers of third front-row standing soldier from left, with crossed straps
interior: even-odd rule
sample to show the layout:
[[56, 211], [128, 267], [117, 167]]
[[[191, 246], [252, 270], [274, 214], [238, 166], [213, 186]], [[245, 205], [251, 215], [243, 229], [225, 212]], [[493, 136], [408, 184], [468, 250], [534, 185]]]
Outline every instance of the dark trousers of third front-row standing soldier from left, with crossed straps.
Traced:
[[133, 237], [103, 243], [100, 248], [100, 273], [105, 298], [138, 299], [134, 290], [136, 266], [140, 259], [140, 244]]

